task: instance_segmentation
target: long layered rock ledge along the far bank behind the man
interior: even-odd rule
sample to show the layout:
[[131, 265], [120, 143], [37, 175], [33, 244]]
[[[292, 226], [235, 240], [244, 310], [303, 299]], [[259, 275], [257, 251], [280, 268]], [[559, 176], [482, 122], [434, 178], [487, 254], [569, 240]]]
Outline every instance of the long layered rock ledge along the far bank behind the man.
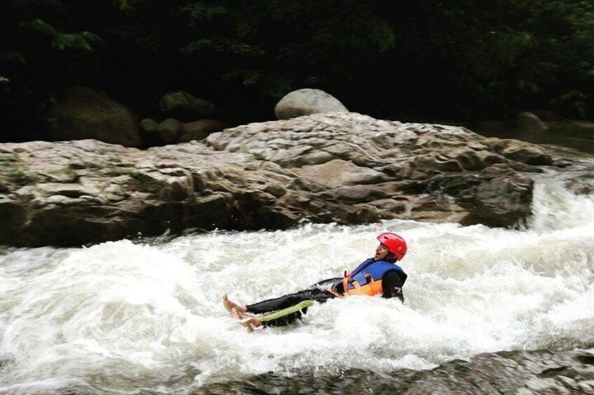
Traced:
[[382, 219], [509, 227], [530, 214], [537, 145], [461, 127], [329, 113], [138, 150], [0, 144], [0, 244], [81, 245], [170, 230]]

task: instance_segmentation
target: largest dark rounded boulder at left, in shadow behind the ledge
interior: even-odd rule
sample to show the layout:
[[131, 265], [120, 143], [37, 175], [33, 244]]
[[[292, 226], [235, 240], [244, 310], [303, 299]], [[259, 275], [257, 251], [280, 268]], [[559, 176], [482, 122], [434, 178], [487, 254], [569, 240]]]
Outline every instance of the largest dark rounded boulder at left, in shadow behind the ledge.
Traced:
[[132, 112], [105, 92], [90, 87], [66, 89], [50, 109], [50, 140], [93, 138], [126, 147], [141, 144]]

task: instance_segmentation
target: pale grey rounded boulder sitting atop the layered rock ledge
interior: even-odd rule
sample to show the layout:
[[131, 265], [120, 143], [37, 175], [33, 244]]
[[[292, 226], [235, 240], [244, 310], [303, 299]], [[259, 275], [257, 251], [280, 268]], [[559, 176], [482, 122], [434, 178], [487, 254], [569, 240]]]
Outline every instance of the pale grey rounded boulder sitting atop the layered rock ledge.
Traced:
[[298, 89], [290, 92], [275, 106], [278, 120], [333, 112], [348, 113], [349, 110], [334, 96], [320, 89]]

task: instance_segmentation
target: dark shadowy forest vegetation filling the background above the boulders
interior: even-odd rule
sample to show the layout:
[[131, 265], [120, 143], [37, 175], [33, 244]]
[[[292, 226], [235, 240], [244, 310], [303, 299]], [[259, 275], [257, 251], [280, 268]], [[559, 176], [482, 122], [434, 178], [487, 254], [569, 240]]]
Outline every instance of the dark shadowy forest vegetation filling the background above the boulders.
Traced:
[[139, 115], [184, 89], [268, 120], [293, 89], [401, 120], [594, 116], [591, 0], [6, 0], [0, 141], [43, 138], [64, 87]]

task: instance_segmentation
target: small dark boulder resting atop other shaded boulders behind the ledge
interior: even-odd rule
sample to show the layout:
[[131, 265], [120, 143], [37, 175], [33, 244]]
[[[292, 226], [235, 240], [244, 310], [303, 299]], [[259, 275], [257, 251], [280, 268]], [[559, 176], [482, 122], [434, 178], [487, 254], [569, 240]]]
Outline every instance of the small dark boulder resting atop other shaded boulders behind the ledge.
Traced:
[[169, 92], [159, 101], [161, 111], [167, 116], [182, 121], [194, 121], [212, 117], [214, 104], [184, 91]]

